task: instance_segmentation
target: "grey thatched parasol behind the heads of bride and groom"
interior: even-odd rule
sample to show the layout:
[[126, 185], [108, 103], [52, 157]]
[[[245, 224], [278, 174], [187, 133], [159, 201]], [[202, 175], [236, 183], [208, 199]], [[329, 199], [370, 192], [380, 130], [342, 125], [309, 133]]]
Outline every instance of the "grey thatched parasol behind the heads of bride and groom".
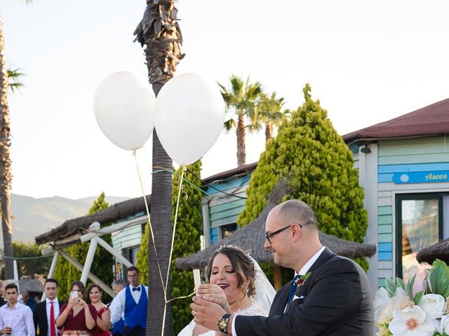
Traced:
[[[267, 205], [259, 217], [240, 230], [236, 230], [231, 236], [218, 241], [205, 250], [189, 255], [186, 258], [178, 258], [176, 260], [176, 266], [180, 269], [202, 268], [206, 266], [206, 263], [220, 245], [239, 246], [243, 250], [248, 251], [257, 261], [272, 261], [272, 253], [269, 253], [264, 248], [265, 221], [269, 211], [279, 204], [282, 197], [288, 194], [289, 191], [288, 181], [279, 181], [269, 195]], [[376, 253], [375, 245], [346, 241], [331, 235], [326, 235], [323, 232], [319, 232], [319, 237], [324, 246], [327, 246], [334, 253], [348, 258], [371, 257]]]

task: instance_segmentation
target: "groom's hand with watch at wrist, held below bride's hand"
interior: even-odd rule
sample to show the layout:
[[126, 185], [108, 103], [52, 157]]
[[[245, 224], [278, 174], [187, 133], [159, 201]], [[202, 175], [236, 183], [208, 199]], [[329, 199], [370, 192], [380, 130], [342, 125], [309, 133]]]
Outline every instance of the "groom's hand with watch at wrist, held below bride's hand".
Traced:
[[218, 330], [217, 322], [226, 314], [219, 304], [202, 299], [201, 297], [193, 297], [194, 302], [190, 304], [192, 315], [195, 317], [195, 323], [203, 325], [210, 330]]

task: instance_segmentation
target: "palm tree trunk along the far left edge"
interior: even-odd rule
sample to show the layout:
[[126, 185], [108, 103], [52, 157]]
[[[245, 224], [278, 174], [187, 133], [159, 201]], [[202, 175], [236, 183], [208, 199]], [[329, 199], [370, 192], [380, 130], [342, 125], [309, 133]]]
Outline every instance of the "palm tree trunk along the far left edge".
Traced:
[[5, 278], [13, 279], [13, 227], [11, 225], [11, 122], [8, 108], [8, 72], [4, 57], [3, 24], [0, 20], [0, 209], [5, 257]]

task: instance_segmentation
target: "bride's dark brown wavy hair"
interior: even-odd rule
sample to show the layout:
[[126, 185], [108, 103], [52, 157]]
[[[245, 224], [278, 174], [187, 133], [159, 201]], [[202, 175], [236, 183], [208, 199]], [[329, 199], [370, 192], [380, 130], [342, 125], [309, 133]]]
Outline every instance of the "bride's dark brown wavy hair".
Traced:
[[210, 282], [213, 260], [218, 254], [224, 254], [227, 258], [229, 258], [232, 268], [234, 269], [234, 272], [236, 272], [237, 278], [239, 279], [239, 289], [243, 290], [243, 292], [247, 291], [246, 288], [243, 287], [243, 284], [246, 282], [246, 279], [248, 279], [248, 297], [253, 295], [255, 293], [255, 267], [253, 261], [251, 261], [248, 255], [246, 255], [246, 253], [238, 247], [221, 246], [213, 253], [208, 265], [206, 265], [206, 280]]

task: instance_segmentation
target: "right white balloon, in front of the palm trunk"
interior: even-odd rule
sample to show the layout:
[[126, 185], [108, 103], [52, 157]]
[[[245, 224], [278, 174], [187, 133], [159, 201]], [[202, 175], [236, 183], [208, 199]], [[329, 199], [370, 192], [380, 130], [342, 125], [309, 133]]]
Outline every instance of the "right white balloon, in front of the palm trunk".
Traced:
[[223, 130], [225, 102], [217, 85], [194, 73], [168, 80], [156, 98], [156, 132], [180, 165], [199, 160]]

